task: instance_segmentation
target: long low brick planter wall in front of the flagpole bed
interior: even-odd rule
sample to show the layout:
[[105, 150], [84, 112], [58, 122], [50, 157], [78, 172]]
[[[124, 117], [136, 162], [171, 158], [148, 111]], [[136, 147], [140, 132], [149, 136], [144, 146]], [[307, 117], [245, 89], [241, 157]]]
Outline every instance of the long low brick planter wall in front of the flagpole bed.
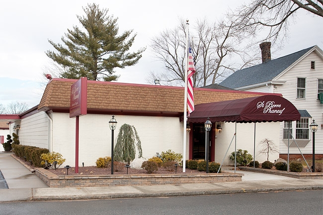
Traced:
[[214, 183], [242, 181], [242, 174], [145, 174], [145, 175], [56, 175], [43, 168], [35, 168], [35, 174], [49, 187], [106, 187], [131, 185], [158, 185], [183, 183]]

